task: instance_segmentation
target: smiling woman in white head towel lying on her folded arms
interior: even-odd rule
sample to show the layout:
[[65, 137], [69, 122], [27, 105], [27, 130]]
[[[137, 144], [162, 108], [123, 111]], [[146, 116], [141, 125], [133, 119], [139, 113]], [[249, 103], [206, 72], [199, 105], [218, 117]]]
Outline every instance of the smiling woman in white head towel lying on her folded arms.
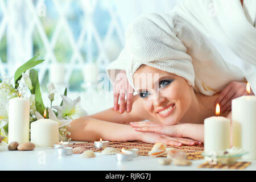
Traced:
[[139, 93], [132, 110], [119, 114], [111, 108], [73, 120], [67, 128], [73, 140], [200, 144], [204, 119], [214, 115], [216, 93], [243, 80], [240, 69], [226, 64], [205, 36], [172, 13], [135, 20], [118, 60], [129, 63], [127, 79]]

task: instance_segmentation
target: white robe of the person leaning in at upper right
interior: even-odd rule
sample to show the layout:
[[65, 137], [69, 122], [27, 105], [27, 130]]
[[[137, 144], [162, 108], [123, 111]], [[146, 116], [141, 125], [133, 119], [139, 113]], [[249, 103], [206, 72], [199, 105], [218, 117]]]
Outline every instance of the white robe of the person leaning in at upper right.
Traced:
[[256, 93], [256, 1], [184, 0], [174, 11], [240, 57]]

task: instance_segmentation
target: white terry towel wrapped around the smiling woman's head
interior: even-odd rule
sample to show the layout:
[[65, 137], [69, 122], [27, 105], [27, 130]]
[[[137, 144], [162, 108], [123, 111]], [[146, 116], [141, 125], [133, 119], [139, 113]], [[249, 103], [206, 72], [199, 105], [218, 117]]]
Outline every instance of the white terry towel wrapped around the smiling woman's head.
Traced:
[[207, 38], [176, 13], [139, 16], [127, 28], [125, 39], [125, 48], [107, 72], [110, 76], [122, 63], [119, 69], [125, 68], [133, 87], [133, 74], [143, 64], [181, 76], [208, 96], [232, 81], [243, 81], [241, 70], [225, 63]]

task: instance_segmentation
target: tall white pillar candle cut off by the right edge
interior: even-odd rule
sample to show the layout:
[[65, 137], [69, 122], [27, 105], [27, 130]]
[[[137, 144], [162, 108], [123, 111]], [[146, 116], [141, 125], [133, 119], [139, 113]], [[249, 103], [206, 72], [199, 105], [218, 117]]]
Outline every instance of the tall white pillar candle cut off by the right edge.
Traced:
[[256, 97], [242, 96], [232, 100], [233, 146], [249, 154], [245, 159], [256, 159]]

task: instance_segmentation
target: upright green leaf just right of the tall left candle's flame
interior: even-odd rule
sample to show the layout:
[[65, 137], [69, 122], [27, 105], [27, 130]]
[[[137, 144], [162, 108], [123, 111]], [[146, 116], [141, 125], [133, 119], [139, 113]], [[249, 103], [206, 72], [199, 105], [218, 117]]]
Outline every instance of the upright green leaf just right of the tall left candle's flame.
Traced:
[[30, 69], [30, 79], [33, 86], [33, 90], [31, 90], [31, 93], [35, 94], [36, 111], [38, 111], [41, 115], [43, 115], [46, 107], [44, 106], [44, 102], [43, 102], [41, 91], [40, 91], [38, 71], [36, 71], [35, 69]]

